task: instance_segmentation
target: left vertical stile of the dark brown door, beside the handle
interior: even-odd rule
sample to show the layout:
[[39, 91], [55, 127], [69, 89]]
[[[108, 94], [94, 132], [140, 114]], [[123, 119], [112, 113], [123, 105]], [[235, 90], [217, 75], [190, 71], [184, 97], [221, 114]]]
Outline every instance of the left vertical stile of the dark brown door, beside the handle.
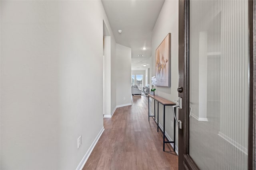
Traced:
[[[199, 170], [189, 156], [189, 0], [179, 0], [179, 87], [182, 92], [182, 108], [179, 119], [182, 129], [179, 129], [179, 170]], [[183, 140], [180, 140], [183, 139]]]

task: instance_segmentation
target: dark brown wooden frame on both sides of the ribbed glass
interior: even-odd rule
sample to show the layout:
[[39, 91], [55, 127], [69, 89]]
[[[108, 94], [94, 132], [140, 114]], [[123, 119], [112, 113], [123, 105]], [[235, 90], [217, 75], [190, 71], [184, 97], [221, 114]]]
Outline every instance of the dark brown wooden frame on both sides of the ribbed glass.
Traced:
[[[248, 2], [250, 96], [248, 131], [248, 170], [256, 169], [256, 2]], [[179, 170], [199, 170], [189, 155], [189, 0], [179, 0], [179, 87], [183, 99], [179, 110], [182, 129], [179, 129]], [[182, 139], [182, 140], [180, 140]]]

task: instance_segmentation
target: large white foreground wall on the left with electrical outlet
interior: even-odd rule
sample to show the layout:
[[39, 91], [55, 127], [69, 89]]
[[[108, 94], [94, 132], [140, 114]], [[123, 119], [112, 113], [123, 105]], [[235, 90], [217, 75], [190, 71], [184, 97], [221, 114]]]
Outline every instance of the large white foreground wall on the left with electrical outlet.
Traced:
[[0, 3], [1, 168], [76, 169], [103, 127], [102, 2]]

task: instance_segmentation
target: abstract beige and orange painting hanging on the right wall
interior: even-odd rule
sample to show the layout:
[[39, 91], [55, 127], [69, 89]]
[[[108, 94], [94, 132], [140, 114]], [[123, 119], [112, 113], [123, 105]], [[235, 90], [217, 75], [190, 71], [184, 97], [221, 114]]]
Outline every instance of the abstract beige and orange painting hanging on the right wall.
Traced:
[[156, 86], [171, 86], [171, 33], [156, 49]]

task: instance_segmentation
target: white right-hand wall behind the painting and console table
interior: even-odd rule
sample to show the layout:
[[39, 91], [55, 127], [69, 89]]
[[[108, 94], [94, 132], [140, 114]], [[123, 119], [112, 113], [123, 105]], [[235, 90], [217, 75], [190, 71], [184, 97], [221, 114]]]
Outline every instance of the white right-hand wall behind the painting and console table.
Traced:
[[[156, 87], [156, 94], [168, 100], [178, 99], [178, 1], [165, 1], [152, 31], [151, 77], [155, 75], [155, 51], [168, 33], [171, 33], [171, 87]], [[151, 87], [151, 86], [150, 86]], [[154, 102], [152, 102], [154, 108]], [[156, 105], [157, 110], [157, 105]], [[178, 110], [178, 109], [177, 109]], [[178, 113], [177, 113], [178, 115]], [[166, 106], [166, 132], [173, 139], [174, 131], [172, 107]], [[172, 122], [171, 122], [172, 121]], [[163, 125], [163, 106], [159, 104], [159, 123]], [[176, 126], [176, 146], [178, 146], [178, 126]]]

